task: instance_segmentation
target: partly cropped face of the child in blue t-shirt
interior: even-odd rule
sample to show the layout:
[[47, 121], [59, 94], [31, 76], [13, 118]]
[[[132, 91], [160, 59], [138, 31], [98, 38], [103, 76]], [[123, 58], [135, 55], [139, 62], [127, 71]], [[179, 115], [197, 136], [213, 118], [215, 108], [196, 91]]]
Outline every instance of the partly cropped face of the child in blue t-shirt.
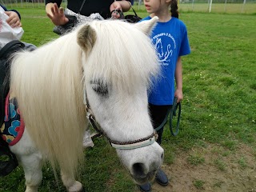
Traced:
[[144, 0], [144, 5], [149, 14], [158, 13], [168, 6], [166, 0]]

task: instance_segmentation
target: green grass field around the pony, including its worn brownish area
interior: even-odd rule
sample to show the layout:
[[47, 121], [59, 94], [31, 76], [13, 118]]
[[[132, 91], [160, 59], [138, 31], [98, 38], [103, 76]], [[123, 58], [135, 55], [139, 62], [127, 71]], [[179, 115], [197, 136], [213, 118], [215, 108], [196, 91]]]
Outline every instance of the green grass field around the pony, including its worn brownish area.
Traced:
[[[19, 10], [25, 30], [23, 41], [40, 46], [58, 37], [52, 32], [53, 24], [43, 9]], [[138, 14], [146, 16], [145, 12]], [[184, 12], [180, 19], [186, 23], [192, 50], [182, 60], [185, 97], [181, 130], [177, 137], [170, 136], [169, 125], [166, 125], [162, 146], [170, 186], [154, 188], [154, 191], [254, 191], [256, 15]], [[138, 191], [106, 139], [97, 138], [94, 144], [94, 148], [85, 151], [86, 162], [81, 167], [80, 181], [86, 191]], [[189, 177], [185, 173], [177, 182], [179, 173], [175, 168], [180, 161], [185, 161], [186, 166], [181, 166], [179, 173], [210, 168], [205, 175], [191, 178], [190, 190], [174, 190], [178, 183], [186, 186], [184, 180]], [[229, 170], [234, 166], [238, 175], [250, 176], [242, 181], [245, 185], [236, 188], [228, 185], [228, 181], [218, 180], [226, 174], [233, 175]], [[210, 179], [211, 170], [218, 171], [216, 180]], [[24, 191], [24, 182], [22, 168], [18, 167], [12, 174], [0, 178], [0, 191]], [[44, 166], [39, 191], [65, 191], [62, 182], [55, 181], [49, 166]]]

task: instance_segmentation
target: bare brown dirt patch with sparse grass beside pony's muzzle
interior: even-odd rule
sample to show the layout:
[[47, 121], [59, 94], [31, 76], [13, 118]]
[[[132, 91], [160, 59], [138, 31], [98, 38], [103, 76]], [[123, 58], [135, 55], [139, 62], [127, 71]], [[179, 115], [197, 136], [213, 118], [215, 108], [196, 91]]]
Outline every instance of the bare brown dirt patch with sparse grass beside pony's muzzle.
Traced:
[[[166, 187], [152, 183], [153, 192], [256, 192], [255, 152], [241, 145], [229, 151], [209, 145], [176, 154], [174, 163], [162, 166], [170, 178]], [[203, 162], [193, 165], [189, 157], [201, 157]]]

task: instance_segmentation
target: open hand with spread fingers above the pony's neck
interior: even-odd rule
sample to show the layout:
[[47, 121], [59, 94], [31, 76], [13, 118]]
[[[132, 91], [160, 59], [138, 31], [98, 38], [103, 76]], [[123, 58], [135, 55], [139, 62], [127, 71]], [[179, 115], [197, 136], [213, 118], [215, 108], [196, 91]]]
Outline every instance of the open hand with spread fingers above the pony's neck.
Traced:
[[69, 21], [69, 19], [65, 17], [64, 9], [62, 7], [58, 8], [56, 3], [50, 8], [50, 11], [50, 14], [47, 13], [47, 16], [55, 26], [62, 26]]

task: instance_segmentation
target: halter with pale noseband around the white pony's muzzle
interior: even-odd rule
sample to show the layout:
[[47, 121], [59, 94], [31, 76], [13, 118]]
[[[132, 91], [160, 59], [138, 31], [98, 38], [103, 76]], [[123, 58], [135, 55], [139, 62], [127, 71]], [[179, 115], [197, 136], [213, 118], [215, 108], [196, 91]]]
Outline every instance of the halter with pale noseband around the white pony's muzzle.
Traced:
[[91, 126], [94, 127], [94, 130], [96, 130], [98, 132], [98, 135], [99, 136], [104, 135], [107, 138], [107, 140], [110, 142], [110, 145], [113, 146], [115, 149], [134, 150], [134, 149], [137, 149], [137, 148], [140, 148], [143, 146], [150, 146], [158, 138], [158, 134], [156, 133], [156, 131], [154, 131], [153, 134], [150, 134], [146, 138], [140, 138], [140, 139], [137, 139], [134, 141], [129, 141], [129, 142], [118, 142], [118, 141], [114, 141], [114, 140], [110, 139], [107, 136], [107, 134], [104, 132], [104, 130], [102, 130], [98, 127], [98, 123], [96, 122], [94, 114], [90, 108], [89, 101], [86, 97], [86, 90], [84, 90], [84, 98], [85, 98], [84, 104], [86, 105], [86, 112], [87, 112], [86, 118], [88, 118]]

